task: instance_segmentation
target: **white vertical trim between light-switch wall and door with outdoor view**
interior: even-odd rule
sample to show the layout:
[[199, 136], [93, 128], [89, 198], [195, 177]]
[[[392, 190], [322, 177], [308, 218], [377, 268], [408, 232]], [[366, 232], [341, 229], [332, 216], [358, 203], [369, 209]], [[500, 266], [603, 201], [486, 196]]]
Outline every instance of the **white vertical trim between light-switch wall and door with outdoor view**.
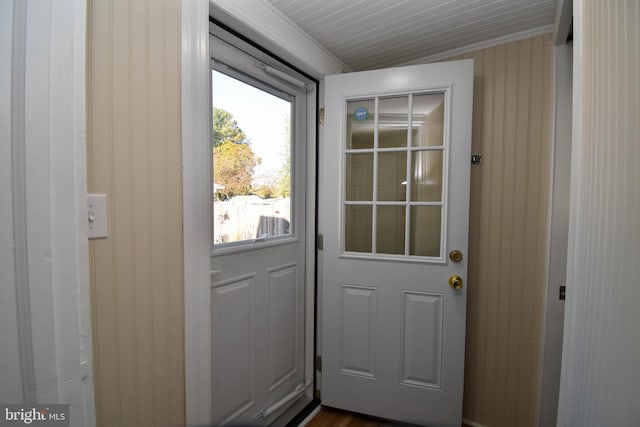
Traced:
[[[188, 426], [211, 425], [209, 3], [181, 2], [185, 394]], [[208, 148], [206, 152], [209, 152]]]

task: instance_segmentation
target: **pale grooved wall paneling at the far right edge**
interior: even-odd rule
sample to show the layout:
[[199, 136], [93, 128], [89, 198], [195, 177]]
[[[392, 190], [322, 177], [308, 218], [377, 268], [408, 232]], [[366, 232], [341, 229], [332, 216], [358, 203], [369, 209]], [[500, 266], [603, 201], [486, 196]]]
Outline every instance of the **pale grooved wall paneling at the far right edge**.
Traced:
[[640, 422], [640, 4], [574, 2], [574, 134], [558, 426]]

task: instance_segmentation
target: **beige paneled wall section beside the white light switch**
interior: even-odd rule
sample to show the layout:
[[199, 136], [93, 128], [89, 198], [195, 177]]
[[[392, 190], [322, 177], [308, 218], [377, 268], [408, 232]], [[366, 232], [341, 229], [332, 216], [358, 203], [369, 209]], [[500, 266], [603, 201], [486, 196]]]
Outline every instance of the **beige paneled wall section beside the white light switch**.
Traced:
[[178, 0], [89, 1], [88, 183], [98, 425], [180, 426], [184, 305]]

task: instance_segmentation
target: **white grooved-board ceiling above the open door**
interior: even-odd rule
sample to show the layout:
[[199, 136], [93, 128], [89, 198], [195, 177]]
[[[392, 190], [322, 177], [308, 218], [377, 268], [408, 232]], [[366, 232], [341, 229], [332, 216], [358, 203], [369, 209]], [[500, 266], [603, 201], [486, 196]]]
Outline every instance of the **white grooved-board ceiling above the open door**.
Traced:
[[268, 0], [352, 71], [550, 32], [557, 0]]

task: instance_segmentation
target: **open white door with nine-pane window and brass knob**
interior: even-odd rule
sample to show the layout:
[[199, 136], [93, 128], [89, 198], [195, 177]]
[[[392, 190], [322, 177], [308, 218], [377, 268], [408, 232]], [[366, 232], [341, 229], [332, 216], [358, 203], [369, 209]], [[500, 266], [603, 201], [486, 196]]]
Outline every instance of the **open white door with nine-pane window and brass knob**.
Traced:
[[473, 62], [325, 84], [322, 403], [459, 427]]

